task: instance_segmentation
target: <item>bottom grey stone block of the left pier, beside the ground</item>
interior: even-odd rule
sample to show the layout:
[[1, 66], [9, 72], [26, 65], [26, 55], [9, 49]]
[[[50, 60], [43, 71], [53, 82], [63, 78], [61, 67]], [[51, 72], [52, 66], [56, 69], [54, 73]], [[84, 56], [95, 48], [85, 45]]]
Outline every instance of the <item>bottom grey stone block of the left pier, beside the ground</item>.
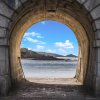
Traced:
[[0, 76], [0, 94], [6, 95], [11, 86], [9, 75]]

